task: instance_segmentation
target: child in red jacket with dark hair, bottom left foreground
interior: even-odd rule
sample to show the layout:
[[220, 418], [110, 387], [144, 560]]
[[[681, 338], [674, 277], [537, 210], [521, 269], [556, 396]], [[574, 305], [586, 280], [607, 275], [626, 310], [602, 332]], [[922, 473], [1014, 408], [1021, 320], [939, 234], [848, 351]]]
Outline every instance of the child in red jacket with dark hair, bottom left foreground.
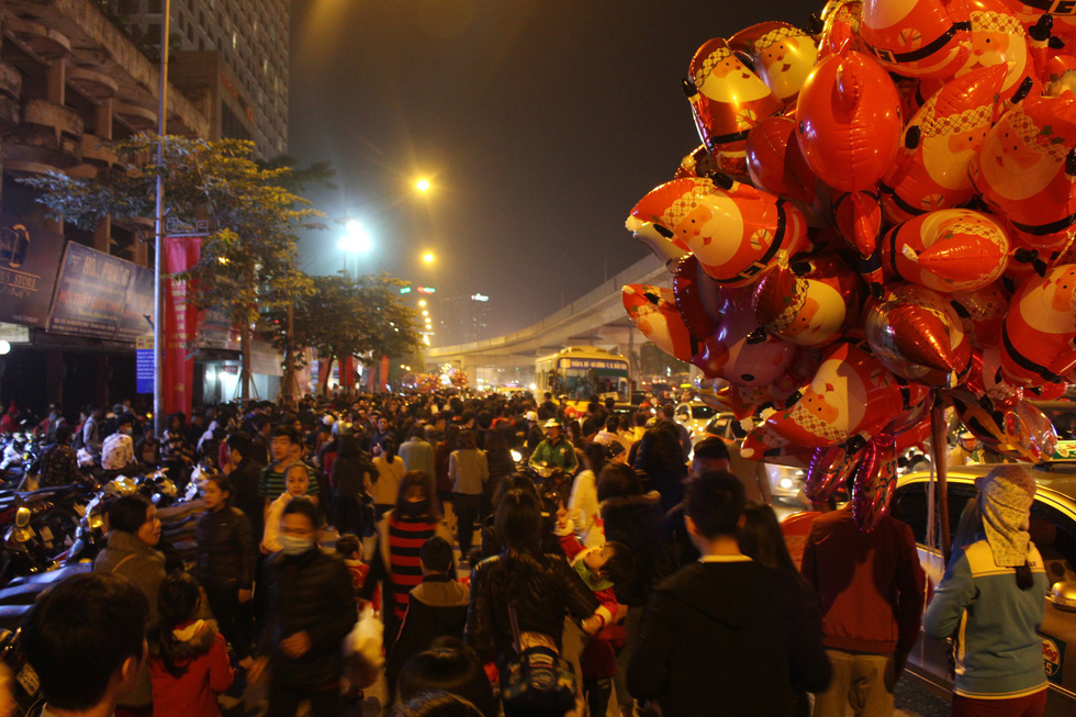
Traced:
[[232, 665], [216, 623], [198, 618], [198, 581], [186, 572], [168, 575], [157, 604], [160, 626], [149, 658], [154, 714], [220, 717], [216, 695], [232, 686]]

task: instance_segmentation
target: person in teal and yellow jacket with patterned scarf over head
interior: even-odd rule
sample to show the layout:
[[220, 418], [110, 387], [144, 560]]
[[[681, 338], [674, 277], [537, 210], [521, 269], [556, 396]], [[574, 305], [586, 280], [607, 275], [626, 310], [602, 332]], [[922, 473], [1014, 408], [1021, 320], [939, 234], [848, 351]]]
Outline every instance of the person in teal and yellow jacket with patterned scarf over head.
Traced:
[[1035, 480], [1004, 464], [975, 483], [982, 526], [953, 551], [922, 626], [932, 638], [956, 635], [954, 717], [1038, 717], [1046, 707], [1038, 631], [1050, 581], [1028, 531]]

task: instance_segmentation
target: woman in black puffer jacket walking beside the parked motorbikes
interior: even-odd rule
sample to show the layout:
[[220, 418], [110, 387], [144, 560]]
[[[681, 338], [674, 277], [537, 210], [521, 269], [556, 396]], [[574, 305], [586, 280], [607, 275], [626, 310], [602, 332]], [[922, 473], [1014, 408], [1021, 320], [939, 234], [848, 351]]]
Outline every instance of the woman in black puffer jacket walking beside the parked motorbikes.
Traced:
[[250, 602], [258, 549], [250, 522], [229, 504], [231, 483], [212, 475], [203, 489], [209, 508], [198, 518], [198, 578], [221, 632], [240, 662], [250, 653], [251, 627], [242, 605]]

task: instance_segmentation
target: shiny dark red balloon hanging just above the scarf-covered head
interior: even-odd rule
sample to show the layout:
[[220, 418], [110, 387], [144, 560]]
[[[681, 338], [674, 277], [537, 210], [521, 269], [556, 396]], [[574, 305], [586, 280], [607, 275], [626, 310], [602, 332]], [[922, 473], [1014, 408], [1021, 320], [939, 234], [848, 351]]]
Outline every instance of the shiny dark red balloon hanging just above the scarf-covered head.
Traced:
[[1057, 447], [1057, 433], [1050, 418], [1027, 401], [998, 407], [963, 389], [950, 391], [950, 397], [964, 427], [990, 450], [1040, 463]]

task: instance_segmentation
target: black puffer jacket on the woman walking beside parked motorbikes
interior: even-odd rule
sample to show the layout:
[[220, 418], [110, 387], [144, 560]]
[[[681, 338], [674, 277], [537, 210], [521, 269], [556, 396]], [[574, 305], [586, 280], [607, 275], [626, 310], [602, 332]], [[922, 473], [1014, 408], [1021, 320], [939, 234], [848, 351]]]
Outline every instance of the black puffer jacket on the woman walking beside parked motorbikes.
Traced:
[[198, 518], [198, 579], [208, 590], [250, 590], [257, 548], [250, 520], [239, 508], [225, 505]]

